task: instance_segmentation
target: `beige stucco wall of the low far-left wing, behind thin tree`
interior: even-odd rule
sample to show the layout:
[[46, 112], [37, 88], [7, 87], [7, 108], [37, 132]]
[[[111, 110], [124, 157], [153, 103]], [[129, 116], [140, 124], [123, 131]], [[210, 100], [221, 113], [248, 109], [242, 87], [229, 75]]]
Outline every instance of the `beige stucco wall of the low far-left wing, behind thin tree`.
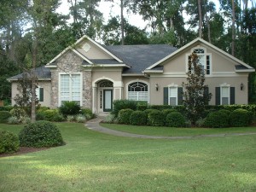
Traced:
[[[12, 82], [12, 105], [15, 105], [15, 96], [20, 94], [20, 91], [17, 90], [17, 82]], [[44, 102], [39, 102], [41, 106], [50, 107], [50, 92], [51, 92], [51, 83], [50, 81], [38, 81], [38, 87], [44, 88]]]

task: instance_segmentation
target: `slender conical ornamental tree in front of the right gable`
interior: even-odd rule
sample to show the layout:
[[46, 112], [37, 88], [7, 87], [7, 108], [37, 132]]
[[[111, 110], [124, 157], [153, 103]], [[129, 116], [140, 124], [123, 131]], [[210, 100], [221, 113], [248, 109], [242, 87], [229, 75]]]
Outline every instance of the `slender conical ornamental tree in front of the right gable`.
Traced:
[[195, 121], [203, 116], [205, 106], [211, 100], [212, 94], [208, 92], [208, 86], [204, 84], [205, 72], [198, 56], [192, 53], [190, 58], [187, 82], [183, 83], [186, 90], [183, 92], [183, 105], [186, 108], [188, 119], [192, 125], [195, 125]]

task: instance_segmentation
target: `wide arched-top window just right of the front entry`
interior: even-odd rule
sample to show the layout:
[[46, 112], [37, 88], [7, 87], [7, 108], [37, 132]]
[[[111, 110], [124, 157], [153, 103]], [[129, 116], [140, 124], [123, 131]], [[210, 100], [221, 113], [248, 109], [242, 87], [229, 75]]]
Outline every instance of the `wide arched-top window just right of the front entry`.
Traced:
[[148, 102], [148, 85], [135, 82], [128, 85], [128, 99]]

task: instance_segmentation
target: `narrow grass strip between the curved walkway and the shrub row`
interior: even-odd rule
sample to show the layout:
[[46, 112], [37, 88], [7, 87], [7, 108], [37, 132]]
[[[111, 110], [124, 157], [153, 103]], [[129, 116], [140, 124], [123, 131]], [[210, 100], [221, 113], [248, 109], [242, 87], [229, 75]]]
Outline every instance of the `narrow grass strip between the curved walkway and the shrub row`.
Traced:
[[116, 131], [129, 132], [148, 136], [200, 136], [224, 133], [243, 133], [256, 132], [256, 127], [230, 127], [230, 128], [174, 128], [160, 126], [135, 126], [135, 125], [118, 125], [118, 124], [101, 124]]

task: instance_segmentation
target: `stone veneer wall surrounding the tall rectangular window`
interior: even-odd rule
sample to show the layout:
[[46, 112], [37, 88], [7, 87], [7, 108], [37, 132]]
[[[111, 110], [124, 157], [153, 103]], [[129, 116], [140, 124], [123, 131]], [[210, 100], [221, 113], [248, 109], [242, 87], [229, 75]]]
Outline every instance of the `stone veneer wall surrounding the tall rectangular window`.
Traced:
[[58, 108], [59, 103], [59, 73], [82, 73], [83, 76], [83, 108], [91, 108], [91, 71], [82, 67], [83, 59], [69, 50], [56, 61], [57, 68], [51, 70], [51, 108]]

